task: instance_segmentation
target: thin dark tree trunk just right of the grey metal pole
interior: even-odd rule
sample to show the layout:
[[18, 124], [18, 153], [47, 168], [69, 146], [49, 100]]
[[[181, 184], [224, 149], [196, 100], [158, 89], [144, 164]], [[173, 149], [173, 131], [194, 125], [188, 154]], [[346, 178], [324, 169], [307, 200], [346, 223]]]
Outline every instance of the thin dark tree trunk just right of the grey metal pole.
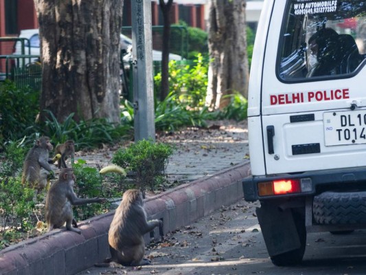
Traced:
[[163, 45], [161, 51], [161, 92], [160, 100], [163, 101], [169, 94], [169, 51], [170, 51], [170, 8], [173, 0], [159, 0], [161, 12], [163, 14]]

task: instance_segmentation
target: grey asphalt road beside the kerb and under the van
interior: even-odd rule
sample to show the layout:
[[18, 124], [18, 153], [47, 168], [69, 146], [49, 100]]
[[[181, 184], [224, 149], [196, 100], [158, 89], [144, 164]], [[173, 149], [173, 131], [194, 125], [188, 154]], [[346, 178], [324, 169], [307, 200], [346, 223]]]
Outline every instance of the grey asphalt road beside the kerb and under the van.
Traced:
[[366, 274], [366, 231], [348, 235], [308, 234], [304, 262], [276, 267], [268, 259], [255, 207], [244, 200], [176, 230], [148, 247], [152, 265], [113, 265], [81, 274]]

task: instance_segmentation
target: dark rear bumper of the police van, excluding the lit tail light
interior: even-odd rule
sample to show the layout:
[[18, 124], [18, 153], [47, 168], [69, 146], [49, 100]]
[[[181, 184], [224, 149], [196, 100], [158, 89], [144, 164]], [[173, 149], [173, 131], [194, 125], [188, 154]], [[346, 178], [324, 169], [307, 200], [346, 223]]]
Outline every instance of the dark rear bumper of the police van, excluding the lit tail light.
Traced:
[[[311, 190], [285, 195], [273, 195], [261, 197], [258, 195], [258, 183], [278, 179], [311, 179]], [[347, 190], [350, 188], [361, 188], [366, 190], [366, 166], [316, 170], [297, 174], [250, 176], [242, 180], [244, 199], [246, 201], [266, 200], [279, 197], [299, 197], [317, 194], [319, 189], [332, 190], [339, 188]]]

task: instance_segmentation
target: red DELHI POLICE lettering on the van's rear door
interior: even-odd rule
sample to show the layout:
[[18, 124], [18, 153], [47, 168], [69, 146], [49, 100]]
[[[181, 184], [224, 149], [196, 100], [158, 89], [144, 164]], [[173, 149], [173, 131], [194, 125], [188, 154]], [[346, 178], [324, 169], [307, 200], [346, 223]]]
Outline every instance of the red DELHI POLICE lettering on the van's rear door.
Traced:
[[288, 94], [271, 94], [271, 105], [342, 100], [350, 98], [349, 89], [330, 89], [324, 91], [306, 91]]

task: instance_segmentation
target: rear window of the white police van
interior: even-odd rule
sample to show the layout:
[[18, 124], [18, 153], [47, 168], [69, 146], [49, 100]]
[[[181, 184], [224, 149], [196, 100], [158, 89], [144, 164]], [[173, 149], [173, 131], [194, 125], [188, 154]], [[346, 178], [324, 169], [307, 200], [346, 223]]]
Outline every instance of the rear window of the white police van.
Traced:
[[284, 81], [341, 78], [366, 63], [366, 2], [289, 0], [277, 74]]

